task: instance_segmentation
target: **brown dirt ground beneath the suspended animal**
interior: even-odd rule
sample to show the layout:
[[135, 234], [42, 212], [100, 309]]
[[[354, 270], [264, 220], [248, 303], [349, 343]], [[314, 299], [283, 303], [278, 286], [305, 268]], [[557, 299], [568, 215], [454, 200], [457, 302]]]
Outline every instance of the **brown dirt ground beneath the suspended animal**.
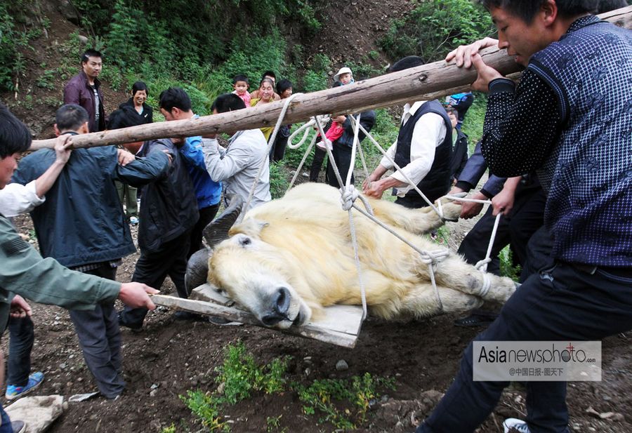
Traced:
[[[20, 232], [29, 233], [28, 218], [15, 221]], [[471, 222], [452, 225], [450, 243], [463, 236]], [[135, 231], [135, 230], [133, 230]], [[119, 280], [129, 281], [137, 256], [124, 260]], [[173, 290], [169, 281], [162, 291]], [[309, 385], [312, 380], [350, 378], [365, 372], [395, 380], [394, 390], [375, 404], [366, 425], [355, 433], [411, 433], [445, 392], [459, 366], [461, 352], [479, 329], [459, 328], [454, 317], [437, 317], [408, 323], [369, 317], [354, 349], [284, 335], [256, 326], [216, 326], [207, 322], [174, 321], [173, 312], [159, 307], [147, 317], [140, 332], [123, 334], [126, 392], [117, 401], [97, 397], [69, 404], [53, 424], [53, 433], [161, 432], [172, 423], [178, 432], [204, 432], [178, 398], [188, 389], [216, 389], [215, 368], [223, 361], [223, 349], [238, 340], [260, 363], [289, 355], [289, 380]], [[34, 305], [36, 342], [32, 370], [44, 371], [39, 395], [72, 394], [96, 390], [77, 345], [72, 322], [65, 310]], [[631, 334], [632, 335], [632, 334]], [[632, 348], [630, 335], [617, 335], [603, 345], [603, 381], [572, 382], [568, 405], [572, 432], [632, 431]], [[6, 349], [7, 338], [3, 345]], [[346, 371], [336, 363], [345, 360]], [[4, 404], [8, 404], [4, 401]], [[594, 413], [608, 413], [601, 419]], [[502, 432], [503, 418], [522, 417], [525, 394], [510, 388], [494, 413], [478, 432]], [[291, 433], [334, 432], [329, 424], [317, 424], [317, 416], [305, 415], [295, 392], [281, 395], [256, 393], [222, 414], [234, 433], [268, 432], [266, 420], [279, 417], [277, 430]]]

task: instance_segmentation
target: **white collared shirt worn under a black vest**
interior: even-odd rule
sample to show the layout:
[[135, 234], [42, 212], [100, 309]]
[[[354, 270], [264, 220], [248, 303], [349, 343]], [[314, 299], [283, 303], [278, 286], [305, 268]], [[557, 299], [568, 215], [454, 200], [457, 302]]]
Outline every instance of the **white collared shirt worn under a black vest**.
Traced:
[[[409, 104], [404, 105], [404, 114], [402, 115], [402, 126], [405, 125], [412, 116], [417, 112], [419, 107], [426, 101], [417, 101], [412, 106]], [[446, 127], [445, 122], [439, 114], [428, 113], [421, 116], [419, 121], [415, 124], [413, 130], [412, 140], [410, 143], [410, 164], [402, 168], [402, 172], [405, 173], [413, 185], [405, 185], [403, 187], [397, 187], [397, 195], [404, 196], [407, 192], [414, 188], [423, 178], [426, 177], [430, 168], [433, 166], [435, 160], [435, 149], [445, 139]], [[388, 148], [386, 154], [391, 160], [395, 159], [395, 152], [397, 152], [397, 140], [391, 147]], [[388, 160], [386, 156], [380, 161], [380, 165], [391, 169], [393, 164]], [[407, 183], [404, 175], [399, 171], [395, 171], [391, 175], [394, 179], [400, 182]]]

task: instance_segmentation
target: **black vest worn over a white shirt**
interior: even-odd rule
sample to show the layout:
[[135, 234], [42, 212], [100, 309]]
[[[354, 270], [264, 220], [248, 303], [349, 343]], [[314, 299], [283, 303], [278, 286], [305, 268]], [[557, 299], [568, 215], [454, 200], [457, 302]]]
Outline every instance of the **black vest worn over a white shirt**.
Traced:
[[[437, 100], [428, 101], [421, 105], [413, 116], [408, 119], [405, 125], [400, 127], [400, 133], [397, 135], [397, 152], [395, 152], [395, 164], [400, 167], [410, 164], [410, 142], [412, 140], [415, 124], [424, 114], [439, 114], [445, 122], [445, 139], [435, 149], [435, 160], [430, 167], [430, 171], [425, 178], [417, 184], [417, 187], [428, 197], [430, 201], [435, 201], [441, 196], [447, 194], [450, 189], [450, 161], [452, 160], [452, 123], [447, 116], [441, 102]], [[426, 201], [421, 198], [418, 192], [411, 189], [406, 193], [406, 201], [408, 203], [419, 204], [423, 207], [428, 206]]]

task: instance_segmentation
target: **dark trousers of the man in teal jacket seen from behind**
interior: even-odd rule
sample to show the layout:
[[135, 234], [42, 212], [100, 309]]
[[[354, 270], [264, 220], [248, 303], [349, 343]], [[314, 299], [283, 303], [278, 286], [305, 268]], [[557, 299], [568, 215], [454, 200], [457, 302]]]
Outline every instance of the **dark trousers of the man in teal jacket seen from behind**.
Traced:
[[[117, 268], [108, 263], [85, 273], [117, 279]], [[99, 391], [108, 399], [117, 397], [123, 392], [125, 381], [121, 376], [121, 332], [114, 302], [100, 302], [93, 310], [72, 309], [70, 319]]]

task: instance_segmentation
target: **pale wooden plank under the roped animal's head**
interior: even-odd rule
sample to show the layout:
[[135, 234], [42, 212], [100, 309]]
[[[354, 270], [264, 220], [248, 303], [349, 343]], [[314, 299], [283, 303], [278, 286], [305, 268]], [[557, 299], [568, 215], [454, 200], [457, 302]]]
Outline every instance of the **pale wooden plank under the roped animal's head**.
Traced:
[[[242, 324], [263, 326], [261, 321], [250, 312], [235, 307], [235, 302], [215, 291], [208, 284], [195, 288], [190, 299], [168, 295], [152, 295], [156, 305], [181, 309], [187, 312], [221, 317]], [[318, 321], [310, 321], [303, 326], [273, 331], [281, 331], [291, 335], [300, 335], [338, 345], [353, 348], [362, 328], [362, 307], [356, 305], [333, 305], [324, 309], [325, 316]], [[271, 328], [268, 328], [271, 329]]]

